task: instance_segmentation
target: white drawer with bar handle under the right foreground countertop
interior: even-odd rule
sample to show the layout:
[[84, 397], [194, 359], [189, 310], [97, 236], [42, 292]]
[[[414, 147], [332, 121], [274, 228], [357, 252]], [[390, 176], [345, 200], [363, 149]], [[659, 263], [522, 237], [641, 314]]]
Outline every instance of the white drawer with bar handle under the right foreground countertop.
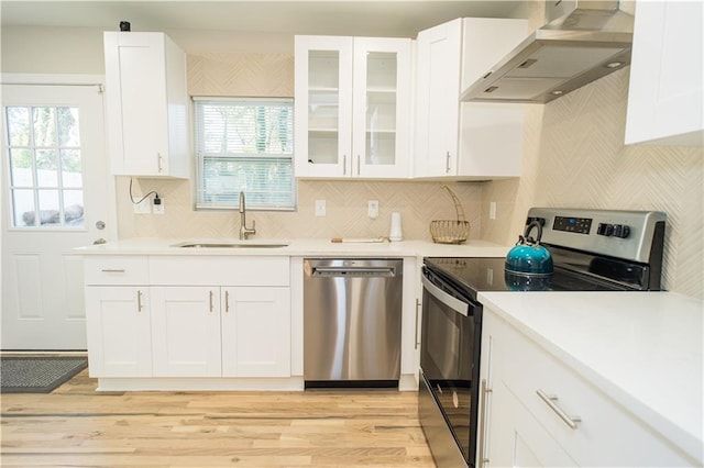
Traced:
[[[690, 465], [657, 431], [513, 328], [494, 343], [505, 385], [581, 466]], [[501, 352], [498, 350], [501, 349]], [[657, 376], [653, 376], [657, 378]], [[544, 401], [543, 397], [557, 397]], [[552, 408], [551, 408], [552, 404]], [[565, 420], [558, 413], [562, 411]], [[569, 417], [580, 421], [570, 427]]]

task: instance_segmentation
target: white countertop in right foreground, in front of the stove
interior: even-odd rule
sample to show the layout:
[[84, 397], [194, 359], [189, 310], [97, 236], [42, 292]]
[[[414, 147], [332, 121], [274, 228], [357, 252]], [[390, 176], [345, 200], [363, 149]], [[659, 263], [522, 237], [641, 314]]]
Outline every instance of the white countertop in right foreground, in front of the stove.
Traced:
[[669, 292], [484, 292], [479, 299], [704, 464], [701, 300]]

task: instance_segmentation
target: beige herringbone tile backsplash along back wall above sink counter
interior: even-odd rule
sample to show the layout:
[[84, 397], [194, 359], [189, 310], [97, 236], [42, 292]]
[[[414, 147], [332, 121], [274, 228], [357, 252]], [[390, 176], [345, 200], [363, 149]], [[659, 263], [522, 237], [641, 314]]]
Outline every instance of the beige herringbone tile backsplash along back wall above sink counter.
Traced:
[[[461, 201], [470, 238], [480, 238], [483, 182], [448, 183]], [[158, 192], [164, 215], [128, 213], [120, 220], [121, 231], [130, 221], [132, 234], [121, 237], [237, 237], [237, 210], [195, 211], [190, 181], [135, 179], [133, 192]], [[129, 203], [129, 178], [118, 178], [118, 197]], [[316, 200], [326, 201], [326, 216], [316, 216]], [[370, 219], [367, 202], [377, 200], [380, 215]], [[128, 207], [127, 209], [129, 209]], [[121, 210], [124, 211], [124, 210]], [[311, 181], [298, 182], [298, 207], [293, 212], [248, 213], [248, 224], [256, 222], [253, 238], [329, 238], [388, 236], [392, 212], [402, 214], [404, 238], [430, 241], [431, 220], [454, 220], [454, 203], [439, 182]]]

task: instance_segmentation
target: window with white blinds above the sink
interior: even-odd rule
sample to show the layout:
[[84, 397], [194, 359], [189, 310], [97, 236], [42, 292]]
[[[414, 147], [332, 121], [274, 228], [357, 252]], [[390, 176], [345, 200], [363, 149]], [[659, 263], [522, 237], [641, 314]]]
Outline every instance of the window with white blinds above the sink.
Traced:
[[293, 99], [194, 98], [200, 209], [294, 210]]

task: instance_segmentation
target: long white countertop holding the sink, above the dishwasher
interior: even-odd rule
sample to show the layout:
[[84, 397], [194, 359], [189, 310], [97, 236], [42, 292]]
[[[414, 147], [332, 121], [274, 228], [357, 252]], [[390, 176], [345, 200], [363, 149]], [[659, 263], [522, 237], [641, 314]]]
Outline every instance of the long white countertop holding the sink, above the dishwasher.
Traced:
[[[174, 245], [212, 244], [288, 244], [278, 248], [185, 248]], [[300, 256], [392, 256], [392, 257], [505, 257], [510, 247], [483, 241], [468, 241], [460, 245], [433, 244], [427, 241], [382, 243], [333, 243], [329, 238], [312, 239], [249, 239], [233, 238], [130, 238], [101, 245], [78, 247], [80, 255], [283, 255]]]

